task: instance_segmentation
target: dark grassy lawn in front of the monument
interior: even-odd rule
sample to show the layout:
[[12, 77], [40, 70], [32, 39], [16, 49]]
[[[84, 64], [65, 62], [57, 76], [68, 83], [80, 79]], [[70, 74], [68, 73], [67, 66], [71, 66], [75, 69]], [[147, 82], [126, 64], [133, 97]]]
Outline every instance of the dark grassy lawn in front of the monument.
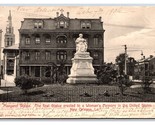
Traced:
[[[0, 102], [155, 102], [153, 88], [151, 94], [144, 94], [142, 88], [128, 88], [125, 95], [114, 85], [53, 84], [31, 89], [27, 95], [17, 87], [0, 89], [12, 91], [0, 94]], [[103, 94], [105, 91], [109, 96]]]

